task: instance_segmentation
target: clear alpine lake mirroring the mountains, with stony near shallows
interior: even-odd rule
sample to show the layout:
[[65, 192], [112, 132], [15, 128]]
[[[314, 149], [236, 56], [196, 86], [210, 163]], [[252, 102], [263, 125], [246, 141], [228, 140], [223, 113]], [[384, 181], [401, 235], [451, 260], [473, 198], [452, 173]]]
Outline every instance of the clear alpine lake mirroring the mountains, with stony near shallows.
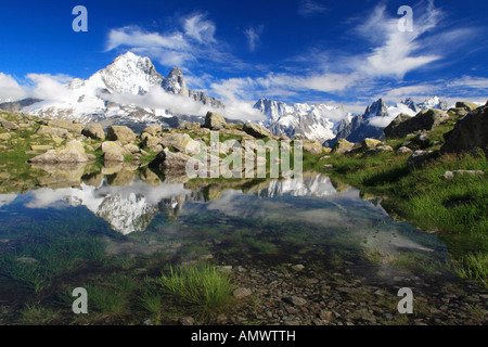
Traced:
[[[436, 233], [324, 175], [188, 180], [8, 162], [0, 175], [0, 324], [488, 322], [486, 287], [457, 274]], [[229, 280], [221, 308], [159, 291], [163, 273], [202, 264]], [[75, 288], [87, 313], [73, 310]]]

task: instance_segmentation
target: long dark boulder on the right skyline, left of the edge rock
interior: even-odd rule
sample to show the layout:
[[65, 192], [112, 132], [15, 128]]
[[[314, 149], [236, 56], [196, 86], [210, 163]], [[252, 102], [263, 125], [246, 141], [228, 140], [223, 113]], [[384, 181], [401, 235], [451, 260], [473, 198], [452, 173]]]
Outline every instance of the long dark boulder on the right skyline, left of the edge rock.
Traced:
[[449, 115], [441, 110], [424, 110], [411, 118], [398, 115], [383, 131], [388, 139], [401, 139], [415, 131], [432, 130], [448, 118]]

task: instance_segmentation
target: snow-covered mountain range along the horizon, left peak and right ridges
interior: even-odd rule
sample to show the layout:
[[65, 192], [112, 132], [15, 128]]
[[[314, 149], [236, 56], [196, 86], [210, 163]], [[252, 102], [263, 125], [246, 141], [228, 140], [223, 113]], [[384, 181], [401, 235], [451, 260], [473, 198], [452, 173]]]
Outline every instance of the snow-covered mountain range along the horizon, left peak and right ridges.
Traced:
[[[187, 87], [183, 72], [174, 67], [166, 77], [157, 73], [149, 57], [127, 52], [88, 79], [74, 78], [62, 91], [47, 98], [4, 102], [0, 108], [25, 112], [40, 117], [74, 119], [110, 125], [126, 125], [141, 131], [149, 124], [178, 127], [181, 120], [204, 123], [208, 110], [219, 112], [224, 104], [203, 91]], [[331, 146], [338, 139], [360, 142], [364, 138], [383, 139], [383, 129], [400, 113], [414, 116], [425, 108], [447, 110], [437, 97], [415, 103], [408, 98], [396, 106], [382, 99], [361, 115], [342, 106], [258, 100], [254, 108], [264, 115], [260, 124], [277, 136], [303, 136]], [[243, 119], [245, 121], [245, 119]]]

